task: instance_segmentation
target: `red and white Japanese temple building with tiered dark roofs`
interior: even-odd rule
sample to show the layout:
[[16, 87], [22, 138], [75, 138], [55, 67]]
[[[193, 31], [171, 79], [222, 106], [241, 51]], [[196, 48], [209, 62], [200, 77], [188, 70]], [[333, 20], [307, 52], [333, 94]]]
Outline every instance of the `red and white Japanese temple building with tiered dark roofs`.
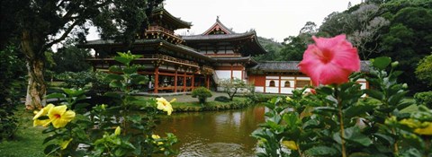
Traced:
[[[130, 47], [114, 40], [88, 41], [81, 48], [93, 48], [94, 58], [87, 59], [94, 69], [108, 71], [120, 65], [113, 57], [116, 52], [130, 51], [142, 55], [134, 64], [144, 65], [139, 74], [148, 75], [150, 82], [140, 92], [191, 92], [203, 86], [218, 89], [222, 79], [238, 78], [256, 86], [256, 92], [292, 93], [293, 89], [311, 84], [311, 79], [299, 72], [299, 62], [258, 63], [252, 57], [265, 54], [256, 31], [234, 32], [219, 20], [199, 35], [178, 36], [175, 30], [191, 28], [168, 13], [163, 6], [154, 10], [148, 29], [137, 35]], [[362, 71], [367, 63], [362, 62]], [[361, 80], [362, 88], [368, 83]]]

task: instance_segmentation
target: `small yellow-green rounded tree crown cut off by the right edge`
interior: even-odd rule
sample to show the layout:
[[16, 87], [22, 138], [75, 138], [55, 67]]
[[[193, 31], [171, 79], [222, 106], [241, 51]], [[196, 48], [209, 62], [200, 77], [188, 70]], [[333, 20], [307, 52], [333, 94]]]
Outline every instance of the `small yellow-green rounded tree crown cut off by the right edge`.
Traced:
[[416, 75], [419, 80], [432, 86], [432, 55], [420, 60], [419, 66], [416, 68]]

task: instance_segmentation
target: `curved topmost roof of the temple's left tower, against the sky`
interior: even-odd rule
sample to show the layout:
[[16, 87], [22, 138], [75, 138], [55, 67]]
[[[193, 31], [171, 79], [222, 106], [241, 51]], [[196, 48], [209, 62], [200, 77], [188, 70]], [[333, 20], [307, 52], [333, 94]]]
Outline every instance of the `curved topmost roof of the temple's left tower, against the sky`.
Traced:
[[153, 16], [162, 17], [163, 21], [175, 26], [175, 29], [190, 29], [192, 26], [191, 22], [184, 22], [178, 17], [173, 16], [171, 13], [165, 10], [163, 6], [159, 6], [153, 10]]

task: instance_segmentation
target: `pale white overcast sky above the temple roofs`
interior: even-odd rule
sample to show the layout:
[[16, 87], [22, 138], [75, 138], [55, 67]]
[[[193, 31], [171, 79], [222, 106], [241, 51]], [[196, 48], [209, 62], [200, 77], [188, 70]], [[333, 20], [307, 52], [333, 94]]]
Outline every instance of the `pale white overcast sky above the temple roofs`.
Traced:
[[[306, 22], [318, 26], [333, 12], [347, 10], [348, 3], [361, 0], [166, 0], [166, 11], [185, 22], [192, 22], [190, 30], [176, 34], [201, 34], [219, 16], [228, 28], [236, 32], [257, 31], [257, 36], [282, 42], [297, 36]], [[87, 39], [99, 39], [93, 32]]]

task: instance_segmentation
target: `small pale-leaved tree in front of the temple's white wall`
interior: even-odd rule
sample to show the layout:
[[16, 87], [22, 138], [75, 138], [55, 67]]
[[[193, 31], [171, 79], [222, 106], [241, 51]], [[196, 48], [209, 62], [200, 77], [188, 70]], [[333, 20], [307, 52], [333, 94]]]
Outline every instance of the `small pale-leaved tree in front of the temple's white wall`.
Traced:
[[238, 78], [224, 79], [220, 81], [220, 87], [223, 88], [223, 92], [226, 92], [229, 96], [229, 100], [234, 99], [234, 96], [240, 89], [246, 89], [247, 84]]

